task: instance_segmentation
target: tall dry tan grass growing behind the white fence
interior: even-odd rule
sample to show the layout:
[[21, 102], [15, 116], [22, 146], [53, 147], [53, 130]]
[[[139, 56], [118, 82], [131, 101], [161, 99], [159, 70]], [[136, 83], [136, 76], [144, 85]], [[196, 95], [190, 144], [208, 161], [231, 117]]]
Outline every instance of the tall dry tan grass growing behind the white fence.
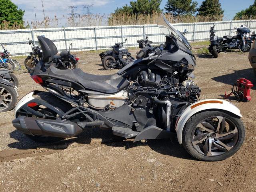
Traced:
[[[223, 16], [173, 16], [172, 14], [165, 14], [168, 21], [171, 23], [190, 23], [190, 22], [212, 22], [221, 21]], [[255, 19], [253, 16], [251, 19]], [[238, 19], [238, 18], [237, 18]], [[243, 17], [239, 19], [249, 20], [248, 17]], [[63, 22], [66, 21], [66, 22]], [[62, 22], [61, 22], [62, 21]], [[142, 24], [162, 24], [164, 21], [162, 19], [161, 13], [153, 14], [84, 14], [76, 16], [62, 16], [62, 18], [46, 17], [44, 20], [37, 20], [32, 22], [27, 22], [25, 24], [14, 23], [10, 25], [10, 22], [3, 21], [0, 23], [0, 30], [7, 29], [23, 29], [23, 28], [57, 28], [60, 26], [66, 27], [84, 27], [84, 26], [113, 26], [113, 25], [142, 25]]]

